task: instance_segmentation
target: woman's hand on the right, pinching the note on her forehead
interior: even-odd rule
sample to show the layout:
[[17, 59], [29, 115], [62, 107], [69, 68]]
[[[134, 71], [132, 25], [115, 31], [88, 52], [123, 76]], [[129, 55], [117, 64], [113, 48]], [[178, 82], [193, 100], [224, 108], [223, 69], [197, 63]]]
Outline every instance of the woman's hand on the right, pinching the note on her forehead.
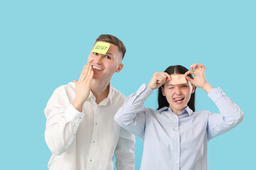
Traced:
[[[210, 86], [210, 84], [208, 84], [208, 82], [206, 81], [206, 77], [204, 74], [206, 71], [206, 67], [203, 64], [195, 63], [192, 64], [191, 67], [189, 68], [191, 70], [185, 73], [186, 79], [190, 81], [191, 84], [193, 84], [194, 86], [197, 86], [206, 91], [207, 93], [209, 93], [210, 90], [213, 89], [213, 87]], [[188, 77], [188, 74], [193, 74], [194, 79]]]

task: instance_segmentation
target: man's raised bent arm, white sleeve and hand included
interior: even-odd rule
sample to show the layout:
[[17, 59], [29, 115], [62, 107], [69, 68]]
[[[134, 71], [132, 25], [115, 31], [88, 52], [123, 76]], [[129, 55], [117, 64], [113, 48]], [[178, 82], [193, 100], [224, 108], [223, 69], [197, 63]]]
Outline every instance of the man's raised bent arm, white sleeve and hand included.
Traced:
[[[62, 86], [53, 92], [45, 109], [46, 144], [53, 154], [62, 154], [72, 144], [84, 113], [82, 106], [90, 94], [93, 71], [85, 65], [78, 81], [75, 81], [75, 99], [70, 101]], [[71, 104], [71, 102], [73, 102]]]

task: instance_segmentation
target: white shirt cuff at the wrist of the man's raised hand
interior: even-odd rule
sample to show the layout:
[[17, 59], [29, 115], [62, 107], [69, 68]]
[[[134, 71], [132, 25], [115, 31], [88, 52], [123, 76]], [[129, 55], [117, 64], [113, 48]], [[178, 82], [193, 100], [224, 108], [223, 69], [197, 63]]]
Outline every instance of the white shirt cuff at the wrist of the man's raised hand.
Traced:
[[73, 121], [74, 123], [79, 124], [84, 117], [85, 113], [81, 113], [74, 108], [72, 104], [68, 107], [68, 110], [65, 112], [65, 118], [68, 121]]

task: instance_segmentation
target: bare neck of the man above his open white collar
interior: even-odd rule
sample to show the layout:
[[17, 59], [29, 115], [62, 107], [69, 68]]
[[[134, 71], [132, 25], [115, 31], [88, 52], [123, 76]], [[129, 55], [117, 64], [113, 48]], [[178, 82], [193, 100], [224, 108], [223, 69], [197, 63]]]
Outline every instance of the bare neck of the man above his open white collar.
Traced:
[[99, 104], [107, 98], [110, 90], [110, 81], [102, 81], [92, 79], [91, 91], [96, 98], [96, 103]]

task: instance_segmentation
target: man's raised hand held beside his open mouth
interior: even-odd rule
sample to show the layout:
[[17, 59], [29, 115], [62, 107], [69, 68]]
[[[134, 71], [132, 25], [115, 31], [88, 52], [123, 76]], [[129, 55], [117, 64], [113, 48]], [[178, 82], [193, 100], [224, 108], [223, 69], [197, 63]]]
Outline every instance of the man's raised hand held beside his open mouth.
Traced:
[[91, 65], [86, 65], [82, 69], [80, 78], [75, 83], [75, 100], [73, 106], [76, 110], [82, 112], [82, 106], [90, 95], [90, 86], [92, 84], [93, 71]]

